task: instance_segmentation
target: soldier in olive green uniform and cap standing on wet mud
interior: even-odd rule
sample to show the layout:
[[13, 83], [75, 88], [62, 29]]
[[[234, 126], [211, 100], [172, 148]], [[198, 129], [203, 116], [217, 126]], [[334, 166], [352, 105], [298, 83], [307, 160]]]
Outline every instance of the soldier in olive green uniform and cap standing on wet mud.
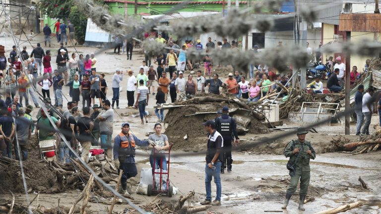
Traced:
[[296, 170], [295, 173], [290, 171], [291, 181], [287, 188], [286, 199], [284, 200], [282, 209], [286, 209], [291, 196], [296, 191], [300, 179], [300, 201], [298, 209], [302, 211], [305, 210], [303, 204], [310, 184], [310, 159], [315, 159], [316, 157], [316, 152], [314, 148], [312, 148], [311, 142], [305, 140], [307, 133], [308, 131], [304, 128], [298, 128], [298, 139], [290, 141], [283, 152], [286, 158], [290, 157], [290, 160], [295, 162]]

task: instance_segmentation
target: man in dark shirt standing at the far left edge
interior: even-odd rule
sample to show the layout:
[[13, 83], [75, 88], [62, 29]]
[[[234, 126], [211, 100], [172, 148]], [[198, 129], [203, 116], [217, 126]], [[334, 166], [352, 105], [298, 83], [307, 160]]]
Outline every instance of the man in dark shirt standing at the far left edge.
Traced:
[[14, 126], [12, 108], [8, 107], [0, 117], [0, 134], [3, 136], [6, 148], [2, 151], [4, 157], [12, 158], [12, 141], [14, 137]]

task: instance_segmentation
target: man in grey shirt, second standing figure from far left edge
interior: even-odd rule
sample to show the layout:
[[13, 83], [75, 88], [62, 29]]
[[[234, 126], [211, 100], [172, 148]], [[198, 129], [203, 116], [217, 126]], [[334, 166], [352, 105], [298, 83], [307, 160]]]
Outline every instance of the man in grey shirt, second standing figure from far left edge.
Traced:
[[[20, 160], [18, 156], [18, 146], [20, 147], [20, 155], [22, 155], [22, 160], [28, 159], [28, 143], [30, 136], [32, 135], [32, 122], [24, 116], [25, 109], [18, 109], [18, 116], [14, 119], [15, 130], [17, 139], [14, 138], [14, 154], [16, 155], [16, 160]], [[17, 142], [18, 141], [18, 142]], [[18, 143], [18, 146], [17, 146]]]

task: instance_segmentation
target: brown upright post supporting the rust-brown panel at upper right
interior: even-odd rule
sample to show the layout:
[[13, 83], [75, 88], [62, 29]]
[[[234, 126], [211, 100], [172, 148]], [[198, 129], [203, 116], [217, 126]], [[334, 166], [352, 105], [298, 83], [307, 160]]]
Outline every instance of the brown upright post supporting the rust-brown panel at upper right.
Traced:
[[[347, 31], [346, 32], [346, 42], [350, 43], [351, 42], [351, 32]], [[345, 135], [349, 135], [349, 120], [350, 120], [350, 104], [349, 104], [349, 99], [350, 99], [350, 70], [351, 70], [351, 54], [346, 53], [345, 54]]]

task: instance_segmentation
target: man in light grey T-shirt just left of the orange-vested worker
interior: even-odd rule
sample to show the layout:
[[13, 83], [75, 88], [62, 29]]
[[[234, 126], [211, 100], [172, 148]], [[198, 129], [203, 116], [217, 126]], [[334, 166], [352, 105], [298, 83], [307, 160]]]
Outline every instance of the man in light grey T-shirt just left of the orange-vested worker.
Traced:
[[103, 101], [103, 111], [99, 114], [99, 132], [101, 136], [101, 148], [105, 150], [107, 158], [113, 158], [113, 145], [111, 137], [113, 134], [114, 110], [109, 100]]

